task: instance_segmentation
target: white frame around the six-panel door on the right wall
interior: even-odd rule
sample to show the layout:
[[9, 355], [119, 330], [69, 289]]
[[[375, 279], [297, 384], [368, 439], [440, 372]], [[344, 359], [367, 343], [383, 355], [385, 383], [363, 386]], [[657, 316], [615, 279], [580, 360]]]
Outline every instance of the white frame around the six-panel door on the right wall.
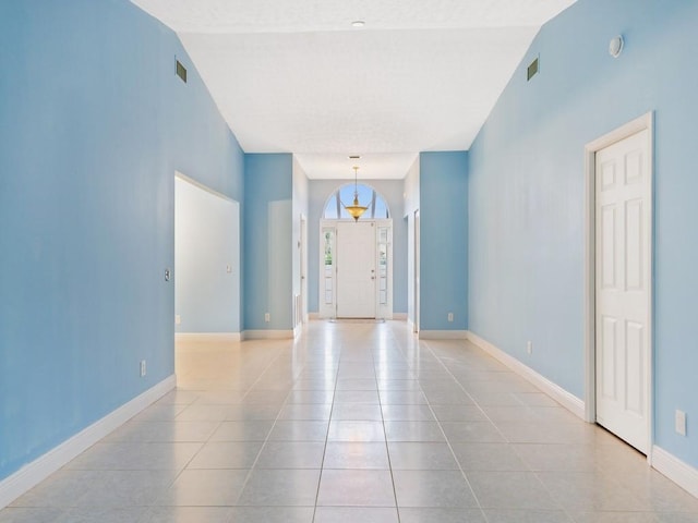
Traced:
[[654, 394], [653, 390], [653, 369], [654, 369], [654, 349], [653, 349], [653, 325], [654, 325], [654, 311], [652, 308], [652, 295], [654, 288], [653, 263], [654, 263], [654, 217], [653, 217], [653, 197], [654, 197], [654, 114], [652, 111], [619, 126], [618, 129], [611, 131], [610, 133], [588, 143], [585, 146], [585, 175], [586, 175], [586, 234], [585, 234], [585, 352], [586, 352], [586, 368], [585, 368], [585, 419], [589, 423], [597, 422], [597, 388], [595, 388], [595, 156], [597, 151], [609, 147], [622, 139], [627, 138], [640, 131], [648, 130], [649, 144], [649, 179], [650, 179], [650, 198], [648, 202], [648, 212], [650, 215], [650, 285], [648, 292], [648, 312], [649, 312], [649, 325], [648, 325], [648, 339], [649, 339], [649, 369], [648, 369], [648, 451], [647, 460], [651, 464], [652, 462], [652, 442], [654, 435], [652, 425], [654, 422]]

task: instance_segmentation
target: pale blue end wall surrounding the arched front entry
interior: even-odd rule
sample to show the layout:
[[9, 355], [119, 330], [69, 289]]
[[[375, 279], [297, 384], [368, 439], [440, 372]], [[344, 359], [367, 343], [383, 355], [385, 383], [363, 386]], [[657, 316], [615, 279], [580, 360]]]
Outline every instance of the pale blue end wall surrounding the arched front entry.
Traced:
[[[327, 198], [349, 180], [311, 180], [308, 221], [309, 311], [317, 313], [317, 278], [320, 264], [320, 220]], [[387, 202], [393, 217], [393, 312], [407, 313], [407, 222], [404, 216], [402, 180], [364, 180], [364, 185], [375, 188]]]

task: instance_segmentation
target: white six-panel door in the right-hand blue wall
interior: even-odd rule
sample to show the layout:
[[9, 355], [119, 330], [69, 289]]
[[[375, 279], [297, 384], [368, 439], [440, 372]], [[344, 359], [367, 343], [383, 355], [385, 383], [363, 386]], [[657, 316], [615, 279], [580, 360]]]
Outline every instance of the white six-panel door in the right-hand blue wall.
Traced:
[[595, 156], [597, 422], [647, 453], [650, 401], [649, 131]]

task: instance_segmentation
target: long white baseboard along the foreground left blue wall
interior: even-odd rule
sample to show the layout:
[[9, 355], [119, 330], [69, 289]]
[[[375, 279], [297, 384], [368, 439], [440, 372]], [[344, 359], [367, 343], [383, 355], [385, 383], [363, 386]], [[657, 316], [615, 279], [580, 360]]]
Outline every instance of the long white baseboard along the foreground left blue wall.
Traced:
[[0, 510], [177, 386], [171, 375], [0, 482]]

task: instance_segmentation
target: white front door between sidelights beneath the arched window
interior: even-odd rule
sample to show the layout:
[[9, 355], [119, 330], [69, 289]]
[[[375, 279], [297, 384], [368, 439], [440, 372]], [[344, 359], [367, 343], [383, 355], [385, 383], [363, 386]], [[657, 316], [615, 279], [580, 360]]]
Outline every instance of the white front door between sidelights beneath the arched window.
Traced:
[[337, 222], [337, 317], [375, 318], [375, 227]]

